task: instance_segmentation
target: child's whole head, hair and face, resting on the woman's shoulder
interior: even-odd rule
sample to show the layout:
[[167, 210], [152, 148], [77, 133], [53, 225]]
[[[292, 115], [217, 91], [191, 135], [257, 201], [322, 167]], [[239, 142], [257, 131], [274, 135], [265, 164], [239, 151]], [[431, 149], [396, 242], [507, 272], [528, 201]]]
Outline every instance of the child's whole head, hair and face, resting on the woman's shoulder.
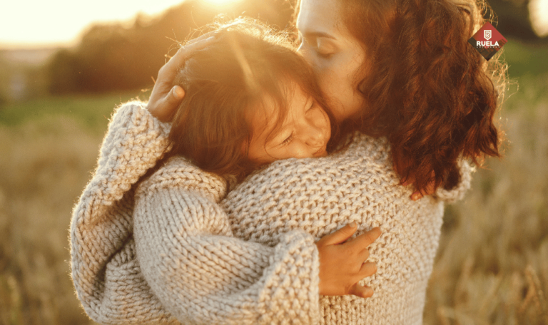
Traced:
[[241, 180], [268, 162], [333, 150], [333, 116], [295, 47], [244, 21], [217, 33], [179, 72], [188, 96], [173, 119], [166, 158], [184, 156], [202, 170]]

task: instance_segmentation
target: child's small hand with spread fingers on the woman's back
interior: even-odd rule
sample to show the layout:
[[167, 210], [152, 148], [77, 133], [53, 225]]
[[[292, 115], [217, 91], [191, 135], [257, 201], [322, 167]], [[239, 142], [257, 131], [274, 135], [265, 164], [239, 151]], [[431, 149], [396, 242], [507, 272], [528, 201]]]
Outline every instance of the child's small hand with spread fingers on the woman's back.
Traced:
[[373, 295], [370, 287], [360, 286], [357, 282], [377, 272], [377, 265], [365, 263], [365, 260], [369, 257], [367, 247], [380, 236], [380, 229], [375, 227], [345, 242], [356, 229], [357, 225], [352, 222], [316, 242], [320, 254], [320, 294], [353, 294], [362, 298]]

